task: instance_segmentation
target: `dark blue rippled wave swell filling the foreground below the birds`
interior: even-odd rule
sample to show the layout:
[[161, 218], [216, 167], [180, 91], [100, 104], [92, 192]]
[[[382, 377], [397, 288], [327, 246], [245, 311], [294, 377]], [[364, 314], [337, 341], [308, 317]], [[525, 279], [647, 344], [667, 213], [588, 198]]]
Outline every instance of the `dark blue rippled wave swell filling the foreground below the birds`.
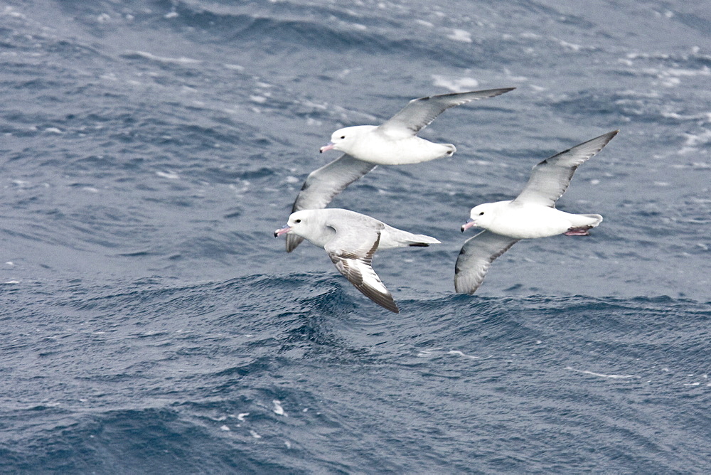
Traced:
[[4, 469], [705, 464], [711, 304], [442, 295], [395, 316], [341, 281], [6, 284]]

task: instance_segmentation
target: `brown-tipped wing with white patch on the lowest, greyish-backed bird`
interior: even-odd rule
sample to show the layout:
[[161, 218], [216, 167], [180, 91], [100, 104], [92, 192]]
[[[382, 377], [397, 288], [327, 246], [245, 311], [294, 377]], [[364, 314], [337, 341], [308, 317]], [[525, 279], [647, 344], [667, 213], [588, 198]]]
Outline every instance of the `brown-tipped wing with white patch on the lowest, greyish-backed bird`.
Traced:
[[[326, 252], [333, 265], [365, 297], [385, 309], [400, 313], [392, 294], [385, 288], [371, 265], [373, 254], [380, 243], [380, 232], [375, 234], [375, 240], [370, 239], [370, 233], [354, 233], [351, 236], [353, 237], [347, 239], [336, 237], [326, 245]], [[358, 240], [358, 247], [352, 247], [355, 240]], [[365, 250], [367, 245], [370, 248]]]

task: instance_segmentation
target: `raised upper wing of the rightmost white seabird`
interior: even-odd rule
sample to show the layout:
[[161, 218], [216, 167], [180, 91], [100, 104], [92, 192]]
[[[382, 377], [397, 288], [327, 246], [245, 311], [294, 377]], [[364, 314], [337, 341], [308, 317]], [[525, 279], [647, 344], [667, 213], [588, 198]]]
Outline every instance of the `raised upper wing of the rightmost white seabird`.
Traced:
[[514, 202], [555, 207], [557, 199], [570, 185], [577, 167], [601, 151], [617, 132], [619, 130], [583, 142], [534, 166], [528, 183]]

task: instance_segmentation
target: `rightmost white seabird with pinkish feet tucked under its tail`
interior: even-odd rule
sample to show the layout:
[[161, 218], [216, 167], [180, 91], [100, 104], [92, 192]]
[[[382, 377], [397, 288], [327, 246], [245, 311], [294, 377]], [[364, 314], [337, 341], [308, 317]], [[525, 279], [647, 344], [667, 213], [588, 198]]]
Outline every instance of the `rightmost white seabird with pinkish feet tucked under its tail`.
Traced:
[[533, 167], [530, 179], [517, 198], [484, 203], [471, 208], [461, 231], [477, 226], [484, 231], [464, 242], [454, 267], [454, 288], [474, 294], [491, 262], [518, 240], [558, 234], [585, 236], [602, 222], [597, 214], [571, 214], [555, 209], [577, 169], [619, 132], [615, 130], [545, 159]]

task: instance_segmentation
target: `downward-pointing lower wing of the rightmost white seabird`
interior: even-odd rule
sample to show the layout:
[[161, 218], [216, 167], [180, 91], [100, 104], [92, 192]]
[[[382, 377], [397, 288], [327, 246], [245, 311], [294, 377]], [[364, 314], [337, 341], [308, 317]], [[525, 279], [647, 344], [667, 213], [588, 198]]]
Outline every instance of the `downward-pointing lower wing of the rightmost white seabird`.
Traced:
[[508, 251], [518, 239], [482, 231], [470, 237], [459, 251], [454, 265], [454, 289], [457, 294], [474, 294], [491, 262]]

